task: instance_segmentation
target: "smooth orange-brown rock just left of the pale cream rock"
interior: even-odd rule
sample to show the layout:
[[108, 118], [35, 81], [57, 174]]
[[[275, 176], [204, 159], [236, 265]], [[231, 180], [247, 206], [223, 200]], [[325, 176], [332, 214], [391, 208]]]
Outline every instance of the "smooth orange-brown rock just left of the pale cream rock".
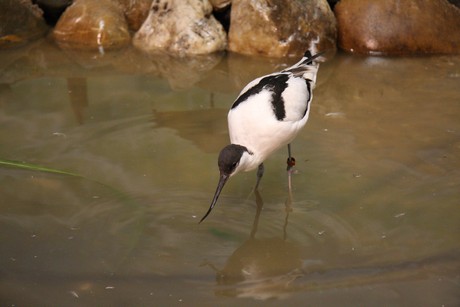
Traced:
[[126, 46], [131, 40], [122, 7], [111, 0], [75, 0], [53, 35], [61, 47], [99, 51]]

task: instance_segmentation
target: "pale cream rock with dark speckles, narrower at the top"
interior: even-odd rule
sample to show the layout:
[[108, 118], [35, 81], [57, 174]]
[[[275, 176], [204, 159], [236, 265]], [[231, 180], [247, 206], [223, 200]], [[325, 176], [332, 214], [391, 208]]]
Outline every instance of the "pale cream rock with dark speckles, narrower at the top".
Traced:
[[153, 0], [133, 43], [144, 51], [193, 55], [224, 50], [227, 41], [208, 0]]

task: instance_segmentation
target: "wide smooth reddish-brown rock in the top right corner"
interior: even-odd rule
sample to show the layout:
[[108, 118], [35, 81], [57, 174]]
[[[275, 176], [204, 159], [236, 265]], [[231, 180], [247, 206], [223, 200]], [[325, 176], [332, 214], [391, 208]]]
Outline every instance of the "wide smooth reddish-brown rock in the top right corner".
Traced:
[[460, 52], [460, 9], [447, 0], [342, 0], [338, 44], [362, 54]]

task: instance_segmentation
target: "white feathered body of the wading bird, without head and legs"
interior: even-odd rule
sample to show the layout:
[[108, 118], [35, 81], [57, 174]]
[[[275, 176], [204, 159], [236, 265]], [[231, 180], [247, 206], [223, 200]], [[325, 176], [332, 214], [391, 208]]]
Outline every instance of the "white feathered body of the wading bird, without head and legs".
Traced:
[[[255, 94], [247, 95], [228, 113], [230, 142], [249, 150], [241, 157], [235, 171], [257, 168], [271, 153], [289, 144], [305, 126], [310, 112], [312, 90], [316, 82], [318, 64], [305, 64], [305, 57], [295, 65], [277, 73], [257, 78], [240, 93], [239, 98], [260, 84], [266, 77], [285, 76], [285, 88], [281, 91], [284, 117], [277, 118], [272, 103], [274, 89], [267, 86]], [[238, 98], [235, 102], [238, 101]]]

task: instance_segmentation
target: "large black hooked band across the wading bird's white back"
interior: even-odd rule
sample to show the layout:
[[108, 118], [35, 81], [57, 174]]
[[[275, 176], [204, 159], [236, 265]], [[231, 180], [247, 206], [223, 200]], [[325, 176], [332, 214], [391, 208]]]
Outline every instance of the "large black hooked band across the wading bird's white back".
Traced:
[[257, 95], [263, 89], [266, 89], [271, 93], [271, 103], [276, 119], [283, 120], [286, 117], [286, 110], [284, 108], [284, 100], [281, 95], [287, 87], [288, 79], [289, 74], [286, 73], [271, 75], [260, 79], [259, 83], [248, 89], [235, 100], [232, 105], [232, 109], [236, 108], [249, 97]]

